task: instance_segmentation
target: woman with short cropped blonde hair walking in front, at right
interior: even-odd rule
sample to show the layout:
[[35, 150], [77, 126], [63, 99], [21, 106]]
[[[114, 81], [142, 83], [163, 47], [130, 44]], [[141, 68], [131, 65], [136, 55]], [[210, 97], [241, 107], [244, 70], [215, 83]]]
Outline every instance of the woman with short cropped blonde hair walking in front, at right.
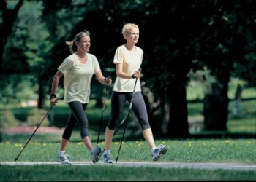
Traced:
[[135, 95], [132, 102], [132, 110], [142, 128], [143, 137], [151, 149], [152, 159], [157, 161], [167, 152], [167, 146], [162, 144], [157, 147], [155, 146], [152, 130], [148, 122], [145, 101], [141, 93], [139, 69], [143, 60], [143, 50], [135, 46], [140, 36], [138, 25], [127, 23], [122, 29], [122, 34], [124, 39], [127, 40], [127, 43], [116, 49], [113, 60], [113, 63], [116, 65], [117, 77], [111, 95], [111, 116], [105, 130], [105, 151], [102, 154], [102, 161], [104, 163], [112, 163], [110, 146], [113, 140], [116, 122], [124, 108], [125, 102], [132, 100], [134, 89]]

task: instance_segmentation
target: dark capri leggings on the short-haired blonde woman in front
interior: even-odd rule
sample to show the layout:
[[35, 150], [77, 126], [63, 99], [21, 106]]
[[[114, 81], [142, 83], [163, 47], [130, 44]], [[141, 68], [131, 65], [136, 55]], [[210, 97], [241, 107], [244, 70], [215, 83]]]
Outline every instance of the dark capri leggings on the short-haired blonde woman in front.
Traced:
[[[112, 92], [111, 116], [110, 121], [108, 122], [108, 128], [110, 130], [115, 130], [118, 117], [123, 111], [124, 104], [126, 101], [130, 103], [131, 98], [132, 92]], [[150, 128], [150, 124], [148, 122], [148, 114], [146, 111], [146, 105], [141, 92], [135, 92], [135, 97], [132, 101], [132, 110], [134, 111], [135, 116], [137, 117], [142, 130]]]

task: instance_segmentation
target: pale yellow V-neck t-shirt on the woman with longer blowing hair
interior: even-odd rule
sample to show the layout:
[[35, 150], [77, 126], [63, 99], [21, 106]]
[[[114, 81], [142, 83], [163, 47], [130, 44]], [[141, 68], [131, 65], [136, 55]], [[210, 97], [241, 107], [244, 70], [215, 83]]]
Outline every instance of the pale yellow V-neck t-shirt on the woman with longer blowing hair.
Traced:
[[88, 60], [84, 64], [80, 63], [75, 53], [69, 55], [58, 68], [64, 74], [64, 103], [89, 103], [91, 78], [100, 68], [97, 58], [89, 53], [87, 55]]

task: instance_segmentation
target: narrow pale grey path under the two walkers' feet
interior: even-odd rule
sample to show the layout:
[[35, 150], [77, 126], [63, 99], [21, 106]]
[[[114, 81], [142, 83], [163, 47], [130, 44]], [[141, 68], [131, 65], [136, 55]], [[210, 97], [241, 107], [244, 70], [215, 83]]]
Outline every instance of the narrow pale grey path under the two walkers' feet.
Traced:
[[[0, 165], [61, 165], [59, 162], [0, 162]], [[97, 162], [72, 162], [72, 165], [113, 165], [118, 167], [163, 167], [163, 168], [194, 168], [206, 170], [256, 170], [256, 165], [244, 163], [189, 163], [189, 162], [117, 162], [104, 164]]]

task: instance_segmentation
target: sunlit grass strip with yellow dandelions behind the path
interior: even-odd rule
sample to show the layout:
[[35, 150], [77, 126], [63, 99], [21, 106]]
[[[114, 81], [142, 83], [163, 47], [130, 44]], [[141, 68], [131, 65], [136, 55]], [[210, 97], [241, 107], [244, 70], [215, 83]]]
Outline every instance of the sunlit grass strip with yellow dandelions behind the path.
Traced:
[[[253, 139], [236, 140], [157, 140], [156, 144], [168, 146], [167, 154], [162, 162], [256, 162], [256, 141]], [[93, 143], [94, 146], [96, 143]], [[111, 153], [115, 158], [118, 154], [120, 141], [112, 144]], [[99, 146], [104, 149], [105, 142]], [[0, 143], [0, 161], [14, 161], [24, 143]], [[60, 143], [30, 142], [20, 154], [20, 161], [55, 161]], [[70, 142], [67, 154], [71, 161], [90, 161], [89, 151], [82, 142]], [[121, 161], [151, 161], [151, 152], [146, 141], [124, 141], [119, 159]]]

